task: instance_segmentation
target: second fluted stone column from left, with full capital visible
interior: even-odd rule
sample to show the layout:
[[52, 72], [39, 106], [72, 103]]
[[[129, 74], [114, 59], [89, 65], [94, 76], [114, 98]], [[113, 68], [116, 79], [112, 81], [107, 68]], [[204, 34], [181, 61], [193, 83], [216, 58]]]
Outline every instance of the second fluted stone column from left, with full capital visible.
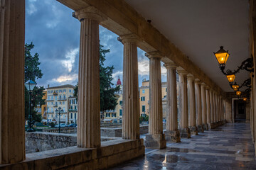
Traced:
[[73, 13], [81, 23], [78, 72], [78, 147], [100, 147], [100, 40], [104, 20], [92, 6]]

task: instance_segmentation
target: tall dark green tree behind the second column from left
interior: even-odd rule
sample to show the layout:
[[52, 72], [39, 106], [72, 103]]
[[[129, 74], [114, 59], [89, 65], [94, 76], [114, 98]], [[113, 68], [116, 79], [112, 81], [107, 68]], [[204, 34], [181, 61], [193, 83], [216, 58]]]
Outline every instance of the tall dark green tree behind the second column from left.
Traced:
[[[100, 45], [100, 111], [114, 110], [117, 106], [117, 97], [114, 95], [119, 91], [119, 86], [112, 88], [112, 74], [114, 66], [104, 67], [104, 62], [106, 60], [106, 54], [110, 52], [110, 49], [103, 49], [103, 45]], [[78, 98], [78, 84], [74, 89], [74, 96]]]

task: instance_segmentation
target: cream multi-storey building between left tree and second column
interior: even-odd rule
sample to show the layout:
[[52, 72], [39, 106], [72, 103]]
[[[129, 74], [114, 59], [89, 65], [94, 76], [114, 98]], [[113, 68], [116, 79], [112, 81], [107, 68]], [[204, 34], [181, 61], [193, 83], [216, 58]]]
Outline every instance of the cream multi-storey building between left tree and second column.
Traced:
[[58, 123], [58, 113], [55, 110], [60, 107], [63, 109], [63, 113], [60, 115], [60, 123], [68, 123], [68, 98], [74, 96], [74, 88], [75, 86], [70, 84], [53, 87], [48, 86], [46, 89], [46, 118], [48, 122]]

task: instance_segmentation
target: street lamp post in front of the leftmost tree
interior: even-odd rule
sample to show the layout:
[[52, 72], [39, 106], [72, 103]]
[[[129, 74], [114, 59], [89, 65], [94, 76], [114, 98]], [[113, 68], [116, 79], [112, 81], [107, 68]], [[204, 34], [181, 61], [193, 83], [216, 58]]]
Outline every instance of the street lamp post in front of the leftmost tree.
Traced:
[[25, 86], [26, 86], [26, 89], [28, 90], [28, 93], [29, 93], [29, 115], [28, 115], [28, 132], [34, 132], [36, 130], [33, 129], [33, 124], [35, 123], [35, 121], [33, 120], [32, 121], [32, 115], [31, 115], [31, 94], [32, 94], [32, 91], [33, 89], [35, 88], [36, 86], [36, 83], [32, 80], [28, 80], [26, 81], [25, 83]]

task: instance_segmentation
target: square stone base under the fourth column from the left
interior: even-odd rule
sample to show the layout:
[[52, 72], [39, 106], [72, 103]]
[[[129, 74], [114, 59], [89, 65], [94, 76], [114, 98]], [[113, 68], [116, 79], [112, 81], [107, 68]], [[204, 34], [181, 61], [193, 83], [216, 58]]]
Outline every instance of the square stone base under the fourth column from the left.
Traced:
[[156, 135], [146, 135], [146, 140], [144, 142], [145, 147], [154, 149], [164, 149], [166, 148], [166, 140], [164, 134]]

